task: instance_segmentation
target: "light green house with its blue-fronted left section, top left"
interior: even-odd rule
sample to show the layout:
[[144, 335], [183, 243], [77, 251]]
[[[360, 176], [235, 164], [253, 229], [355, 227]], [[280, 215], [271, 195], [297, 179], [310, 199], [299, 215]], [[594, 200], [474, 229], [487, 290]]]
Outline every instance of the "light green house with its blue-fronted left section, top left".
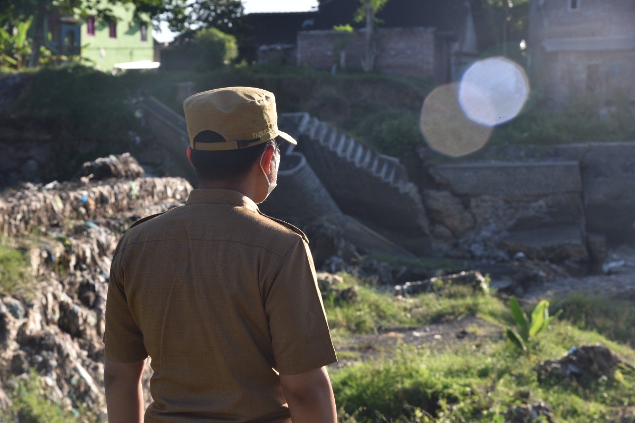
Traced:
[[153, 67], [152, 25], [135, 22], [130, 4], [109, 7], [116, 20], [100, 20], [90, 10], [83, 18], [48, 15], [45, 46], [53, 53], [81, 55], [104, 71], [122, 63], [124, 68]]

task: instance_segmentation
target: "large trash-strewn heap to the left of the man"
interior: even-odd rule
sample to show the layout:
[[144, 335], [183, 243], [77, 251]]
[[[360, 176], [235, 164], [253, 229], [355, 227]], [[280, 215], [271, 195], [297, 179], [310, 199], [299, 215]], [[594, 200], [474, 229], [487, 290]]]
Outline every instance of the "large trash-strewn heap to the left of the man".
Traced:
[[107, 178], [142, 174], [130, 156], [97, 160], [88, 171], [98, 176], [0, 197], [0, 228], [20, 237], [37, 280], [35, 292], [0, 298], [0, 391], [34, 369], [48, 400], [105, 419], [101, 339], [112, 253], [131, 223], [182, 204], [192, 187], [180, 178]]

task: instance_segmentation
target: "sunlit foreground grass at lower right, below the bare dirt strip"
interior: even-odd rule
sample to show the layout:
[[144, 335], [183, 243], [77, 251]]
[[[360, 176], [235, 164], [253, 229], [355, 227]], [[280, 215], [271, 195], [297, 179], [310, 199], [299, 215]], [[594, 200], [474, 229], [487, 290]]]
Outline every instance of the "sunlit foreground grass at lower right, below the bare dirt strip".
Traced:
[[633, 372], [617, 370], [588, 388], [537, 381], [540, 361], [557, 360], [573, 345], [596, 342], [627, 360], [635, 354], [556, 321], [535, 356], [519, 355], [502, 338], [481, 337], [443, 349], [401, 345], [331, 371], [331, 381], [340, 419], [347, 423], [502, 422], [509, 421], [511, 408], [539, 401], [551, 405], [554, 421], [617, 421], [610, 416], [632, 414]]

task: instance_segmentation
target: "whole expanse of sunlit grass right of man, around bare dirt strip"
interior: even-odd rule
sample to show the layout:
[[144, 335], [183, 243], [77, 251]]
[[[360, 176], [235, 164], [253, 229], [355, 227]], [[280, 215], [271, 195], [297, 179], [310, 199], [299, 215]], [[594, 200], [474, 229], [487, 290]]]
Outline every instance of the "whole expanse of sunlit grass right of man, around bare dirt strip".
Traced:
[[[425, 325], [478, 316], [497, 324], [503, 333], [512, 324], [507, 305], [490, 296], [474, 296], [455, 289], [443, 296], [423, 294], [401, 299], [343, 275], [341, 288], [358, 285], [357, 301], [324, 301], [337, 345], [356, 334], [392, 325]], [[596, 309], [597, 307], [597, 309]], [[544, 401], [551, 405], [555, 421], [596, 422], [630, 415], [635, 405], [635, 374], [616, 370], [591, 386], [575, 383], [539, 383], [537, 365], [558, 360], [572, 348], [601, 343], [630, 363], [635, 351], [626, 344], [628, 332], [616, 332], [615, 341], [603, 330], [612, 315], [588, 322], [572, 323], [582, 313], [593, 316], [610, 308], [589, 298], [572, 297], [551, 306], [565, 309], [563, 317], [537, 335], [537, 348], [521, 353], [510, 342], [481, 337], [477, 341], [451, 343], [444, 348], [415, 347], [403, 342], [380, 356], [364, 359], [331, 371], [340, 421], [367, 422], [504, 422], [511, 408]], [[615, 310], [615, 314], [625, 311]], [[627, 313], [620, 327], [631, 322]], [[570, 319], [570, 320], [567, 320]], [[605, 320], [606, 319], [606, 320]], [[468, 332], [479, 334], [471, 325]], [[503, 339], [502, 337], [500, 339]], [[616, 342], [620, 341], [620, 342]], [[342, 358], [354, 359], [355, 354]]]

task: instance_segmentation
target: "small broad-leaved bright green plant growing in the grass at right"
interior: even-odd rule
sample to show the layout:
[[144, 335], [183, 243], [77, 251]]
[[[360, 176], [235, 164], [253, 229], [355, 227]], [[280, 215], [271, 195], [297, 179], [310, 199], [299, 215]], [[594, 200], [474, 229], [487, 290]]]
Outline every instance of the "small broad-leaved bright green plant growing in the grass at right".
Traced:
[[544, 299], [533, 309], [531, 312], [531, 320], [529, 320], [514, 296], [509, 299], [509, 308], [511, 309], [512, 316], [514, 316], [514, 320], [516, 320], [518, 332], [508, 326], [505, 329], [505, 335], [507, 335], [507, 338], [512, 341], [515, 346], [523, 351], [527, 351], [527, 346], [530, 345], [530, 341], [542, 332], [542, 330], [547, 328], [549, 324], [562, 313], [562, 310], [559, 310], [558, 313], [550, 317], [549, 301]]

